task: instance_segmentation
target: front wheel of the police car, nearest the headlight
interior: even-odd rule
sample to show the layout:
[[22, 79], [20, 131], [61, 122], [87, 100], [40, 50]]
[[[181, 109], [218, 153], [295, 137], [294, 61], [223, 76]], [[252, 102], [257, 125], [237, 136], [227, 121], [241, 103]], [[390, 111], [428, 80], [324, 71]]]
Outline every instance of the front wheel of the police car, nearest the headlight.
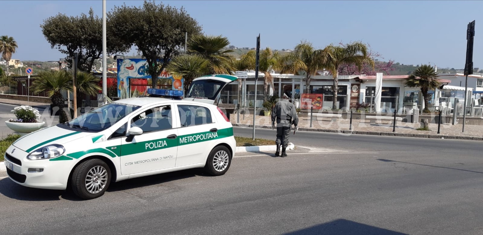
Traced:
[[100, 159], [90, 159], [79, 164], [72, 173], [72, 191], [83, 199], [102, 196], [111, 182], [111, 170]]

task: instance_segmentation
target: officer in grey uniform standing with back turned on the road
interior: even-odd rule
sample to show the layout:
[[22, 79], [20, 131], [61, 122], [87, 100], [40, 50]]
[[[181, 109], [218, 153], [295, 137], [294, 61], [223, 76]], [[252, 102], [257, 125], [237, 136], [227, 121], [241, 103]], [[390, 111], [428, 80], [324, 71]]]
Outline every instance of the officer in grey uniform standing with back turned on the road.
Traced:
[[298, 130], [298, 116], [297, 108], [294, 104], [288, 102], [288, 97], [284, 96], [284, 99], [277, 102], [272, 110], [272, 130], [275, 129], [275, 121], [277, 122], [277, 152], [275, 156], [280, 156], [280, 145], [282, 145], [282, 157], [287, 157], [285, 149], [288, 145], [288, 135], [290, 134], [290, 128], [292, 124], [295, 126], [295, 130]]

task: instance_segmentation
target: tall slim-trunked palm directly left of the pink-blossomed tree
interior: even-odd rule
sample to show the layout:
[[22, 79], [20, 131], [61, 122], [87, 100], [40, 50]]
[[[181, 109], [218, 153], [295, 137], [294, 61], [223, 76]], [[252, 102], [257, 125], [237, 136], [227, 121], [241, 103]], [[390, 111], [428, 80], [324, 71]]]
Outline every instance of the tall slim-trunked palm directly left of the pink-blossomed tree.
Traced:
[[368, 64], [374, 69], [374, 60], [368, 56], [368, 46], [360, 41], [349, 43], [344, 46], [329, 45], [325, 49], [329, 53], [326, 69], [334, 78], [334, 102], [332, 109], [337, 109], [337, 91], [339, 87], [339, 68], [341, 65], [356, 65], [359, 71], [362, 65]]

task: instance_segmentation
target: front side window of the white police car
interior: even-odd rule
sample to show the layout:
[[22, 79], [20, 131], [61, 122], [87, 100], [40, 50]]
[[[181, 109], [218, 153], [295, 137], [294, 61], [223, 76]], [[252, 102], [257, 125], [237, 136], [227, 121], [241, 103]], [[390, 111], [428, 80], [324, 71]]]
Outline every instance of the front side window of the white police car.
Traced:
[[171, 105], [163, 105], [145, 110], [131, 119], [131, 127], [139, 127], [142, 132], [172, 129]]

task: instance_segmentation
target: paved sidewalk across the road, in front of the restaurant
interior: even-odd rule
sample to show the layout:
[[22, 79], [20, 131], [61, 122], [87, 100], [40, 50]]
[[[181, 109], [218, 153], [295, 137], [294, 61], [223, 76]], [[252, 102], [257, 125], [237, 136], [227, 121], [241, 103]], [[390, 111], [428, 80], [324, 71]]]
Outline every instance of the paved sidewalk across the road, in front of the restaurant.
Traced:
[[[331, 121], [329, 118], [313, 117], [312, 128], [310, 128], [310, 118], [300, 117], [298, 121], [299, 131], [320, 131], [335, 132], [340, 134], [368, 134], [368, 135], [385, 135], [385, 136], [403, 136], [403, 137], [421, 137], [421, 138], [445, 138], [445, 139], [462, 139], [462, 140], [482, 140], [483, 126], [465, 125], [465, 132], [462, 131], [462, 125], [441, 124], [440, 134], [438, 133], [438, 124], [430, 123], [431, 131], [417, 131], [421, 127], [419, 123], [397, 122], [396, 132], [393, 131], [393, 125], [389, 121], [377, 122], [370, 124], [369, 120], [352, 120], [352, 131], [349, 130], [349, 119], [339, 118], [337, 121]], [[233, 126], [253, 127], [253, 115], [240, 115], [240, 124], [237, 124], [237, 115], [230, 115], [230, 121]], [[271, 118], [266, 116], [256, 116], [256, 127], [270, 128]]]

